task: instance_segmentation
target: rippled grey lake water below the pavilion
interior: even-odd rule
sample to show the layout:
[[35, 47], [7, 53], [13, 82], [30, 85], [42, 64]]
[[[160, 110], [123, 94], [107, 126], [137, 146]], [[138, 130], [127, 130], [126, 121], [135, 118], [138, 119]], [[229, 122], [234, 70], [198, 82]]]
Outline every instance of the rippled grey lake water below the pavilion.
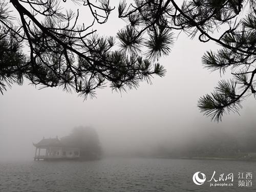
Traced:
[[[196, 172], [206, 175], [202, 185]], [[209, 186], [228, 183], [233, 186]], [[221, 174], [233, 174], [219, 181]], [[244, 179], [238, 174], [244, 173]], [[252, 173], [252, 179], [246, 179]], [[239, 181], [240, 180], [240, 181]], [[252, 186], [241, 186], [239, 182]], [[250, 183], [251, 182], [251, 183]], [[0, 191], [255, 191], [256, 162], [226, 160], [106, 158], [98, 161], [0, 163]]]

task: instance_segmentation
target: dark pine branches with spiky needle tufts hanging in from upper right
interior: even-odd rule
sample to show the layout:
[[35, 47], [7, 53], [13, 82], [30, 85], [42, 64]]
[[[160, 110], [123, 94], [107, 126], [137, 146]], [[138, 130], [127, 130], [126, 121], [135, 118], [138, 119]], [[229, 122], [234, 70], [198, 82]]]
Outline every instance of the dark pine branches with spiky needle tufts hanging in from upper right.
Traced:
[[[177, 1], [178, 2], [178, 1]], [[233, 79], [221, 80], [216, 90], [201, 97], [198, 106], [212, 120], [223, 114], [238, 112], [241, 101], [255, 97], [256, 73], [256, 9], [255, 1], [192, 0], [178, 5], [174, 0], [134, 0], [119, 4], [119, 17], [129, 23], [118, 33], [123, 50], [158, 59], [167, 55], [173, 31], [184, 31], [200, 41], [215, 41], [222, 48], [209, 51], [202, 58], [211, 71], [225, 73], [229, 68]]]

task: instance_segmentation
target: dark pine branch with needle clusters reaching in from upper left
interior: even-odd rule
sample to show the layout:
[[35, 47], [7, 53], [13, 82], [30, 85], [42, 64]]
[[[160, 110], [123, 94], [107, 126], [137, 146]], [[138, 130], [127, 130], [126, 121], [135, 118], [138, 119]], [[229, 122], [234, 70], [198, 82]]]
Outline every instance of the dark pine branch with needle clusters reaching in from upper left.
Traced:
[[[25, 77], [42, 88], [62, 87], [87, 98], [107, 82], [112, 89], [125, 90], [138, 87], [142, 80], [150, 81], [155, 74], [164, 75], [159, 63], [115, 50], [114, 37], [100, 37], [92, 29], [95, 21], [104, 24], [108, 20], [114, 9], [108, 0], [71, 2], [79, 9], [87, 8], [94, 22], [89, 26], [79, 23], [79, 9], [65, 9], [66, 0], [0, 2], [2, 93], [12, 83], [22, 84]], [[17, 19], [10, 10], [17, 13]], [[22, 53], [25, 44], [29, 55]]]

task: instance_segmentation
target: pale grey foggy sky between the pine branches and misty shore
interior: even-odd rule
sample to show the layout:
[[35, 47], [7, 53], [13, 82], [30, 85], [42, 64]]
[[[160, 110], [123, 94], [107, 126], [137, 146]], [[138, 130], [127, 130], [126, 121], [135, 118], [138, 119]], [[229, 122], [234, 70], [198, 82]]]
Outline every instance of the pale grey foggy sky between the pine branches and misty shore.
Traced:
[[[125, 25], [117, 14], [116, 8], [106, 24], [94, 28], [100, 34], [115, 35]], [[66, 136], [80, 125], [97, 130], [106, 154], [149, 151], [159, 144], [185, 146], [210, 133], [238, 139], [254, 133], [253, 97], [242, 103], [241, 116], [226, 115], [221, 123], [199, 113], [197, 100], [214, 90], [220, 79], [219, 72], [203, 69], [201, 57], [217, 48], [214, 42], [202, 43], [181, 33], [169, 56], [159, 60], [167, 70], [165, 77], [153, 78], [152, 85], [142, 82], [138, 90], [127, 93], [112, 92], [109, 87], [97, 90], [92, 100], [83, 101], [61, 88], [37, 90], [40, 86], [35, 89], [28, 81], [13, 85], [0, 95], [0, 160], [32, 160], [32, 142], [44, 136]]]

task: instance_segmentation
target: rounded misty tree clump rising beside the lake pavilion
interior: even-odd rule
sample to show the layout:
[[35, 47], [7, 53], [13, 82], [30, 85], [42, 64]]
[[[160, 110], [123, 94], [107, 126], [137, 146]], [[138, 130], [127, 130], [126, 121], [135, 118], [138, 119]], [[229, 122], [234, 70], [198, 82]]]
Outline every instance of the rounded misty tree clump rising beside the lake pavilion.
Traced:
[[80, 159], [99, 159], [102, 155], [98, 134], [92, 127], [75, 127], [70, 135], [60, 138], [60, 142], [79, 148]]

